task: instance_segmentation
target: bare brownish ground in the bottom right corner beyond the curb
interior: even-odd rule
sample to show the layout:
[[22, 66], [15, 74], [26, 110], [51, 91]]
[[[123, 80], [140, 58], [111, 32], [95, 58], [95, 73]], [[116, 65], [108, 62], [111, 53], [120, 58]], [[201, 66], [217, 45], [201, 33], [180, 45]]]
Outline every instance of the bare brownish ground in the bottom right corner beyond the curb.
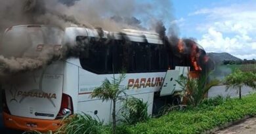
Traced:
[[245, 133], [255, 134], [256, 133], [256, 118], [249, 118], [240, 124], [228, 127], [221, 131], [216, 131], [217, 134], [233, 134], [233, 133]]

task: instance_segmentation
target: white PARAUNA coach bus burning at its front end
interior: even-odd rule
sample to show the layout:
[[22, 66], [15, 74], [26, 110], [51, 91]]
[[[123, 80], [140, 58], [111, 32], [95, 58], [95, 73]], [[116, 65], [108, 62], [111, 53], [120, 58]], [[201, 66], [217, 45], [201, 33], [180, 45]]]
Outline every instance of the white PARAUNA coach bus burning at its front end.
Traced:
[[[179, 75], [189, 71], [197, 75], [206, 70], [209, 60], [192, 40], [168, 40], [158, 33], [133, 29], [110, 32], [19, 25], [7, 29], [1, 49], [7, 58], [15, 54], [39, 59], [35, 64], [28, 61], [32, 69], [22, 64], [21, 73], [9, 76], [2, 86], [5, 126], [38, 131], [56, 130], [63, 116], [77, 112], [110, 122], [112, 103], [91, 99], [90, 94], [121, 69], [127, 73], [121, 82], [127, 94], [148, 102], [148, 114], [152, 114], [162, 97], [171, 99], [181, 92], [175, 88]], [[173, 70], [168, 77], [172, 90], [160, 93], [169, 70]]]

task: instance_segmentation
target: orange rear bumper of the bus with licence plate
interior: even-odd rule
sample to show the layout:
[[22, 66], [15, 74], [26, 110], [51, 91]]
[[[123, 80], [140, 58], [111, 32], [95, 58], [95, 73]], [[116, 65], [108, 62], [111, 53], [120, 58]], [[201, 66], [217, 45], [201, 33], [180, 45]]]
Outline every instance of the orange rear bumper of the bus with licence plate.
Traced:
[[5, 127], [24, 131], [36, 130], [40, 132], [56, 131], [61, 126], [61, 120], [42, 120], [35, 118], [24, 118], [12, 116], [3, 112], [3, 122]]

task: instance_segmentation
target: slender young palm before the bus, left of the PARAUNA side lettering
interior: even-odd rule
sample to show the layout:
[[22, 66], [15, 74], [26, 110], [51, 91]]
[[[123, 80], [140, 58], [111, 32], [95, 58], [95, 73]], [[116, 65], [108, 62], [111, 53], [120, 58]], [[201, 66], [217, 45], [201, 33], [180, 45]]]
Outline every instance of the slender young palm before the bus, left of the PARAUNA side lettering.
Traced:
[[118, 100], [123, 99], [121, 95], [125, 95], [124, 92], [126, 90], [125, 87], [121, 86], [121, 82], [125, 78], [125, 74], [121, 73], [119, 75], [119, 78], [115, 78], [115, 75], [113, 77], [112, 82], [108, 80], [107, 78], [102, 82], [102, 85], [98, 88], [96, 88], [93, 93], [91, 93], [91, 97], [102, 99], [102, 101], [112, 101], [113, 103], [113, 109], [112, 109], [112, 119], [113, 119], [113, 126], [112, 130], [113, 133], [116, 134], [116, 102]]

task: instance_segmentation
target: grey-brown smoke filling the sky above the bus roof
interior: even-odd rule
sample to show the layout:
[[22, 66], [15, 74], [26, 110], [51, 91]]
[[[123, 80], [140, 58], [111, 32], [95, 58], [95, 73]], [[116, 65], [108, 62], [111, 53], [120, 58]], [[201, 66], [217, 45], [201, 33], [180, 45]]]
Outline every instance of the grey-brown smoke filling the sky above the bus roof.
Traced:
[[[173, 20], [169, 0], [151, 3], [139, 0], [10, 0], [0, 2], [0, 31], [22, 24], [58, 27], [76, 24], [120, 31], [125, 27], [146, 29], [152, 20]], [[157, 12], [156, 12], [157, 10]], [[139, 20], [137, 16], [141, 19]]]

